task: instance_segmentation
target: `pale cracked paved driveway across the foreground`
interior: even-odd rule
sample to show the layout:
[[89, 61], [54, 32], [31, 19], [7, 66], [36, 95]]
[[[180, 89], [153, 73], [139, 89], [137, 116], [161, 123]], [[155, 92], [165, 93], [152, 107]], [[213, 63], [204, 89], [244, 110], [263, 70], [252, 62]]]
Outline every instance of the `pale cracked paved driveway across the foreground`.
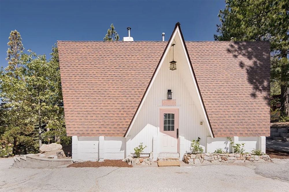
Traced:
[[0, 158], [0, 192], [288, 191], [289, 159], [188, 167], [24, 169]]

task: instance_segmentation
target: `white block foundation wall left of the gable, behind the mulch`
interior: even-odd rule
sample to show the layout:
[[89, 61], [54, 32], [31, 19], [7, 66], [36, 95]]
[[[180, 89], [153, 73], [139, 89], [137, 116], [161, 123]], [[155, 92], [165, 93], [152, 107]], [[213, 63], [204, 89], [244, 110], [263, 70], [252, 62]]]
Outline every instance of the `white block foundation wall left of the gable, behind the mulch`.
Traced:
[[124, 137], [72, 137], [72, 160], [103, 161], [104, 159], [123, 159], [125, 157]]

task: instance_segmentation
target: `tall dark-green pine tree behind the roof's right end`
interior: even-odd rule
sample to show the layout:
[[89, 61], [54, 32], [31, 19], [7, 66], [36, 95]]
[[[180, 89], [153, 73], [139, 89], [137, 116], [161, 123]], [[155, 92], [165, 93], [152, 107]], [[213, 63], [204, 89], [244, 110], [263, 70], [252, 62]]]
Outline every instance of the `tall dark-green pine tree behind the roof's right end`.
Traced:
[[[281, 115], [288, 115], [289, 1], [226, 0], [215, 40], [270, 41], [271, 85], [281, 87]], [[278, 91], [276, 91], [278, 92]]]

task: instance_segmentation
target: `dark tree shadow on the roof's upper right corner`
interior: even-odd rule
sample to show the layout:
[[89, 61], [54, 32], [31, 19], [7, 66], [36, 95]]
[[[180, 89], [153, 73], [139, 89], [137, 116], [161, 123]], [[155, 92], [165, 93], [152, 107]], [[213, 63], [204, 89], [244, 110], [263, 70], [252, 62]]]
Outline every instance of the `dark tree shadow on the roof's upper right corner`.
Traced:
[[252, 85], [251, 97], [262, 96], [270, 106], [270, 44], [267, 42], [232, 42], [227, 49], [246, 70]]

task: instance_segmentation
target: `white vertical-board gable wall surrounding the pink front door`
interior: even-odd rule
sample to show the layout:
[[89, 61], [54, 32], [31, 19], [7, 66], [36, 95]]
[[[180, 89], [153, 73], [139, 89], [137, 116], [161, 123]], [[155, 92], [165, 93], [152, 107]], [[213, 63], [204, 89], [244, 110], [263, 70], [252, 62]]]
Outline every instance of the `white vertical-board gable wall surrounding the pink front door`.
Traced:
[[[179, 108], [179, 136], [185, 138], [185, 151], [190, 151], [191, 141], [201, 138], [201, 145], [206, 146], [206, 139], [210, 136], [209, 128], [205, 123], [205, 114], [194, 86], [185, 52], [178, 35], [175, 36], [174, 60], [177, 61], [177, 70], [169, 69], [169, 62], [173, 59], [172, 47], [158, 72], [142, 108], [136, 117], [128, 134], [131, 139], [131, 153], [139, 143], [147, 145], [144, 153], [153, 151], [153, 136], [158, 135], [160, 129], [160, 111], [162, 100], [167, 98], [167, 90], [173, 92], [176, 107]], [[169, 107], [166, 107], [169, 108]], [[203, 125], [201, 125], [201, 121]], [[161, 151], [160, 151], [161, 152]]]

